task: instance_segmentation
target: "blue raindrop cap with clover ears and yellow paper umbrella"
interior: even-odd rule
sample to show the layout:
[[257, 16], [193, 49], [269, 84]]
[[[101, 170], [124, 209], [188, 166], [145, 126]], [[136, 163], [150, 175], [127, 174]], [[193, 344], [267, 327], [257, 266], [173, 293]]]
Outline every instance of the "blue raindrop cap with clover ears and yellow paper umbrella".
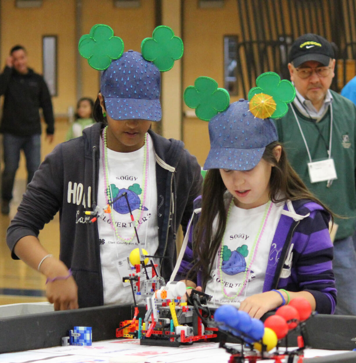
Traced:
[[204, 170], [254, 168], [265, 147], [278, 140], [271, 119], [283, 117], [294, 97], [295, 88], [290, 81], [281, 80], [277, 73], [265, 72], [249, 91], [249, 101], [241, 98], [229, 105], [226, 90], [218, 88], [212, 78], [198, 77], [194, 86], [185, 89], [183, 98], [187, 106], [195, 108], [197, 117], [209, 121], [210, 151]]

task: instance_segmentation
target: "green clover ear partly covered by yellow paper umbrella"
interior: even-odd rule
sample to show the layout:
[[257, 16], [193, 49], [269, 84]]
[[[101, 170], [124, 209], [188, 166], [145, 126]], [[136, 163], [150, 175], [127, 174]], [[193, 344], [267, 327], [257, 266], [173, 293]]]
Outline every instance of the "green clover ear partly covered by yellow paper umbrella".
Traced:
[[292, 102], [295, 98], [295, 88], [292, 83], [287, 79], [281, 81], [277, 73], [266, 72], [257, 77], [256, 86], [249, 91], [248, 100], [251, 101], [253, 96], [259, 93], [269, 95], [276, 103], [276, 109], [268, 117], [283, 117], [288, 111], [287, 103]]

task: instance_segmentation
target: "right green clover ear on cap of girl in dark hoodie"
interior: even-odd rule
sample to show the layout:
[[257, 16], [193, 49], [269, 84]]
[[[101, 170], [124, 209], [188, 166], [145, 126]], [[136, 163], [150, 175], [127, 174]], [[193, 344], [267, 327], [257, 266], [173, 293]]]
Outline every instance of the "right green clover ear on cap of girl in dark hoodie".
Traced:
[[174, 61], [183, 56], [183, 41], [174, 35], [169, 26], [160, 25], [153, 30], [152, 38], [145, 38], [141, 42], [141, 53], [160, 72], [165, 72], [173, 67]]

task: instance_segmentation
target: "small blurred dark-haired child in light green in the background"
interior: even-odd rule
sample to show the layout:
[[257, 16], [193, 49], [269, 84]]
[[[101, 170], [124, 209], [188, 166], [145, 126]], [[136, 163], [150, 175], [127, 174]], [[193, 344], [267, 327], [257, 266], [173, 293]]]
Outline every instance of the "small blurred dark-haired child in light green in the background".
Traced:
[[69, 128], [66, 140], [71, 140], [83, 134], [86, 127], [92, 126], [95, 123], [93, 119], [94, 101], [89, 97], [82, 97], [77, 102], [77, 112], [75, 121]]

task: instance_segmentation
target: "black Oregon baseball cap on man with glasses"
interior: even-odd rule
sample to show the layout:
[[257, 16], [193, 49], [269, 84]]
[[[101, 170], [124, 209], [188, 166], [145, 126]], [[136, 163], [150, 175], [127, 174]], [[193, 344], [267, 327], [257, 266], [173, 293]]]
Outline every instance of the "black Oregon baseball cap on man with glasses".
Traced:
[[330, 42], [317, 34], [304, 34], [297, 38], [288, 53], [288, 62], [299, 67], [307, 61], [317, 61], [327, 66], [330, 58], [335, 58]]

